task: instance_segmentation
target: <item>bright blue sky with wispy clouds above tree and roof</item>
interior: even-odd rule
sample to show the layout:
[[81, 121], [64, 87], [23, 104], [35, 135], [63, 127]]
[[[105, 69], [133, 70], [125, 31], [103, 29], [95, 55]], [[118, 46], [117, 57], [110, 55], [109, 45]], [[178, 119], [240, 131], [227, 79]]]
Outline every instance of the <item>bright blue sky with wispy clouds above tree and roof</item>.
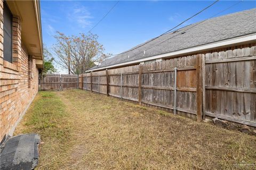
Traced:
[[[117, 1], [41, 1], [43, 42], [48, 48], [53, 35], [88, 32]], [[213, 1], [119, 1], [115, 8], [92, 30], [106, 53], [117, 54], [161, 35], [194, 15]], [[219, 13], [237, 1], [219, 1], [187, 21], [183, 26]], [[219, 15], [255, 8], [255, 1], [243, 1]]]

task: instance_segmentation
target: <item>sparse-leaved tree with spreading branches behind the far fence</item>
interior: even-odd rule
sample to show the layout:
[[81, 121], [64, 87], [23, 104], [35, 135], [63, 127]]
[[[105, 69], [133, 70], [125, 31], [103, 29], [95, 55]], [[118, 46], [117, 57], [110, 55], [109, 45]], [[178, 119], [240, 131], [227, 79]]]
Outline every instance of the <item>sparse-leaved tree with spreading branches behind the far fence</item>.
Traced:
[[59, 60], [55, 60], [63, 69], [67, 69], [69, 74], [85, 73], [87, 69], [93, 66], [93, 62], [102, 62], [106, 60], [107, 55], [103, 54], [105, 50], [98, 43], [97, 35], [90, 33], [79, 36], [66, 36], [57, 32], [54, 36], [57, 43], [53, 46], [53, 51]]

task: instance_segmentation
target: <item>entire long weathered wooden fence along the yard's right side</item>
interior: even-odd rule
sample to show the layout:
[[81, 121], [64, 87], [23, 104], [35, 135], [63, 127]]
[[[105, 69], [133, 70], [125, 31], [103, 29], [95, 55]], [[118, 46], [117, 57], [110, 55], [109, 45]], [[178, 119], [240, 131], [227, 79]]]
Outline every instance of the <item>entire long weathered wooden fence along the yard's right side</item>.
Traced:
[[256, 47], [80, 74], [79, 88], [256, 126]]

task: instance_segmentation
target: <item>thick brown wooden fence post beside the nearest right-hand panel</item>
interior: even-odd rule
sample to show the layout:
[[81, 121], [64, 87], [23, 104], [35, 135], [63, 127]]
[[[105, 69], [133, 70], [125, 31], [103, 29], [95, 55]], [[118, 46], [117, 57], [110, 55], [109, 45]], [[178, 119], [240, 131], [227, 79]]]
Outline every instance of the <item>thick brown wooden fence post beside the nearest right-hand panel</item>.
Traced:
[[196, 55], [196, 115], [197, 122], [202, 121], [202, 104], [203, 104], [203, 88], [202, 88], [202, 55]]

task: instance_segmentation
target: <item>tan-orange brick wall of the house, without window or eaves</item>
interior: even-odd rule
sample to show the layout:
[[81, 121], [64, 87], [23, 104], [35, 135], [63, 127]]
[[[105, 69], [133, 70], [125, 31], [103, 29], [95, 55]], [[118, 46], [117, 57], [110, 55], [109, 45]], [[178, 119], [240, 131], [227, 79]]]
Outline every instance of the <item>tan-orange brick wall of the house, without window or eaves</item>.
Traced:
[[3, 60], [3, 1], [0, 1], [0, 141], [13, 133], [38, 91], [38, 69], [21, 40], [18, 16], [13, 17], [13, 59]]

